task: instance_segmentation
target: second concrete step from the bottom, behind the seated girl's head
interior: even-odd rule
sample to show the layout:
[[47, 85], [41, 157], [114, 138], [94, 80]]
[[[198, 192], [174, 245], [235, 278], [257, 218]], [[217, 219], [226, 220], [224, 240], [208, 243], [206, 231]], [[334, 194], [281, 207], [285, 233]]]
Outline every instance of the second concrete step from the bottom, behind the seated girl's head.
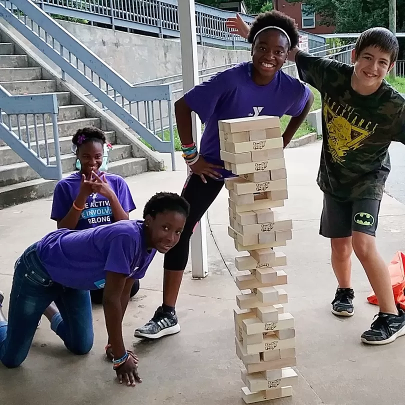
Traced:
[[[115, 145], [108, 154], [108, 160], [111, 162], [127, 159], [129, 157], [131, 157], [130, 145]], [[55, 158], [51, 157], [50, 161], [54, 162]], [[75, 155], [73, 155], [72, 153], [64, 154], [61, 156], [61, 161], [63, 172], [74, 170], [76, 162]], [[22, 181], [33, 180], [38, 177], [39, 174], [25, 162], [0, 166], [0, 187], [19, 183]]]

